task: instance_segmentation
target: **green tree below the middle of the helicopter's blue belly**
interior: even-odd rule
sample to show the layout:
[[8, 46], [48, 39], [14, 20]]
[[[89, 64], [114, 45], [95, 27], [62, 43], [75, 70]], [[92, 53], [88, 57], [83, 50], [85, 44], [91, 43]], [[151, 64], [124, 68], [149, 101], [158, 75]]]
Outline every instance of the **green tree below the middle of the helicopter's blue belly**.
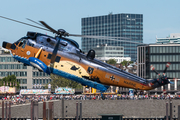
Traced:
[[[82, 88], [82, 85], [78, 82], [63, 78], [61, 76], [53, 75], [51, 74], [51, 88], [55, 89], [58, 87], [70, 87], [70, 88]], [[45, 86], [45, 88], [48, 88], [48, 84]]]

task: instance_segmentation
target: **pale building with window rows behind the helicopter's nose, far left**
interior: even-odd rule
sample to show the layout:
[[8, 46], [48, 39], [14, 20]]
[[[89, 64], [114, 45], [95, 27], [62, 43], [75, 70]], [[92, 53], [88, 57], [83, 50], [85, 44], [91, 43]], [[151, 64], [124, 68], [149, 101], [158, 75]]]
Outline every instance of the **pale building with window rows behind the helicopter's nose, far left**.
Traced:
[[48, 74], [39, 72], [31, 66], [24, 66], [23, 63], [15, 60], [9, 52], [0, 50], [0, 79], [8, 75], [15, 75], [20, 84], [20, 89], [44, 88], [51, 81]]

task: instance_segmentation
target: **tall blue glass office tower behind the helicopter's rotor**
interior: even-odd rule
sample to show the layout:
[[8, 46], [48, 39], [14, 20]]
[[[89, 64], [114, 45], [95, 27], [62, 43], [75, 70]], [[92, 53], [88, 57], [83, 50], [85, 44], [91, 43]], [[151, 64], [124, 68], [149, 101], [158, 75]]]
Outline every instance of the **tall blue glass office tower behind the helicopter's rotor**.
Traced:
[[[143, 43], [142, 14], [109, 14], [81, 19], [82, 35], [124, 37], [126, 41]], [[82, 51], [88, 52], [98, 45], [123, 46], [124, 57], [137, 59], [137, 43], [82, 38]]]

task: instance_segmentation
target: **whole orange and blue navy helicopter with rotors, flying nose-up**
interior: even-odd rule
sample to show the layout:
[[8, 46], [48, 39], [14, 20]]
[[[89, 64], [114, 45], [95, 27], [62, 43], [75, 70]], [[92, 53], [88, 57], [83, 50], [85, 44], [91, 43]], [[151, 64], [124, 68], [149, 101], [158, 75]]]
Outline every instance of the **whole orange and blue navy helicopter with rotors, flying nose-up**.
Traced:
[[[159, 77], [147, 80], [95, 59], [95, 51], [92, 49], [84, 54], [79, 49], [76, 41], [67, 38], [68, 36], [75, 36], [117, 40], [120, 37], [69, 34], [63, 29], [53, 29], [44, 21], [35, 22], [28, 19], [38, 24], [39, 27], [7, 17], [0, 17], [56, 34], [55, 37], [52, 37], [37, 32], [27, 32], [26, 37], [22, 37], [14, 43], [4, 41], [2, 44], [3, 48], [10, 50], [13, 58], [24, 63], [24, 65], [36, 67], [39, 71], [79, 82], [84, 86], [98, 89], [101, 93], [105, 92], [110, 86], [151, 90], [170, 83], [168, 80], [170, 78], [165, 75], [170, 63], [167, 63], [163, 75], [160, 75], [151, 66], [151, 70]], [[104, 98], [103, 95], [102, 98]]]

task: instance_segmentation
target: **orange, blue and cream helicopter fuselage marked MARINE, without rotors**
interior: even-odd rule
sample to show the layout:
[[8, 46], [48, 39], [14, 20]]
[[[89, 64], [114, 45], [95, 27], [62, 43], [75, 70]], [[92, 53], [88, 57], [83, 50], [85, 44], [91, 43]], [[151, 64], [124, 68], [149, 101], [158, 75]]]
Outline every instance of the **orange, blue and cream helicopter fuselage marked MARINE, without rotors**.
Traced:
[[[24, 64], [33, 66], [28, 60], [29, 58], [36, 58], [48, 66], [49, 69], [53, 69], [49, 73], [63, 77], [67, 76], [67, 78], [69, 75], [73, 75], [75, 79], [77, 77], [77, 82], [85, 80], [85, 82], [81, 82], [85, 85], [88, 81], [92, 81], [100, 85], [112, 85], [137, 90], [150, 90], [159, 86], [158, 84], [150, 84], [146, 79], [103, 63], [95, 58], [89, 59], [78, 48], [78, 44], [70, 39], [53, 38], [32, 32], [14, 44], [3, 43], [3, 47], [9, 49], [12, 56]], [[64, 74], [67, 75], [65, 76]], [[69, 77], [69, 79], [73, 80], [73, 76]]]

